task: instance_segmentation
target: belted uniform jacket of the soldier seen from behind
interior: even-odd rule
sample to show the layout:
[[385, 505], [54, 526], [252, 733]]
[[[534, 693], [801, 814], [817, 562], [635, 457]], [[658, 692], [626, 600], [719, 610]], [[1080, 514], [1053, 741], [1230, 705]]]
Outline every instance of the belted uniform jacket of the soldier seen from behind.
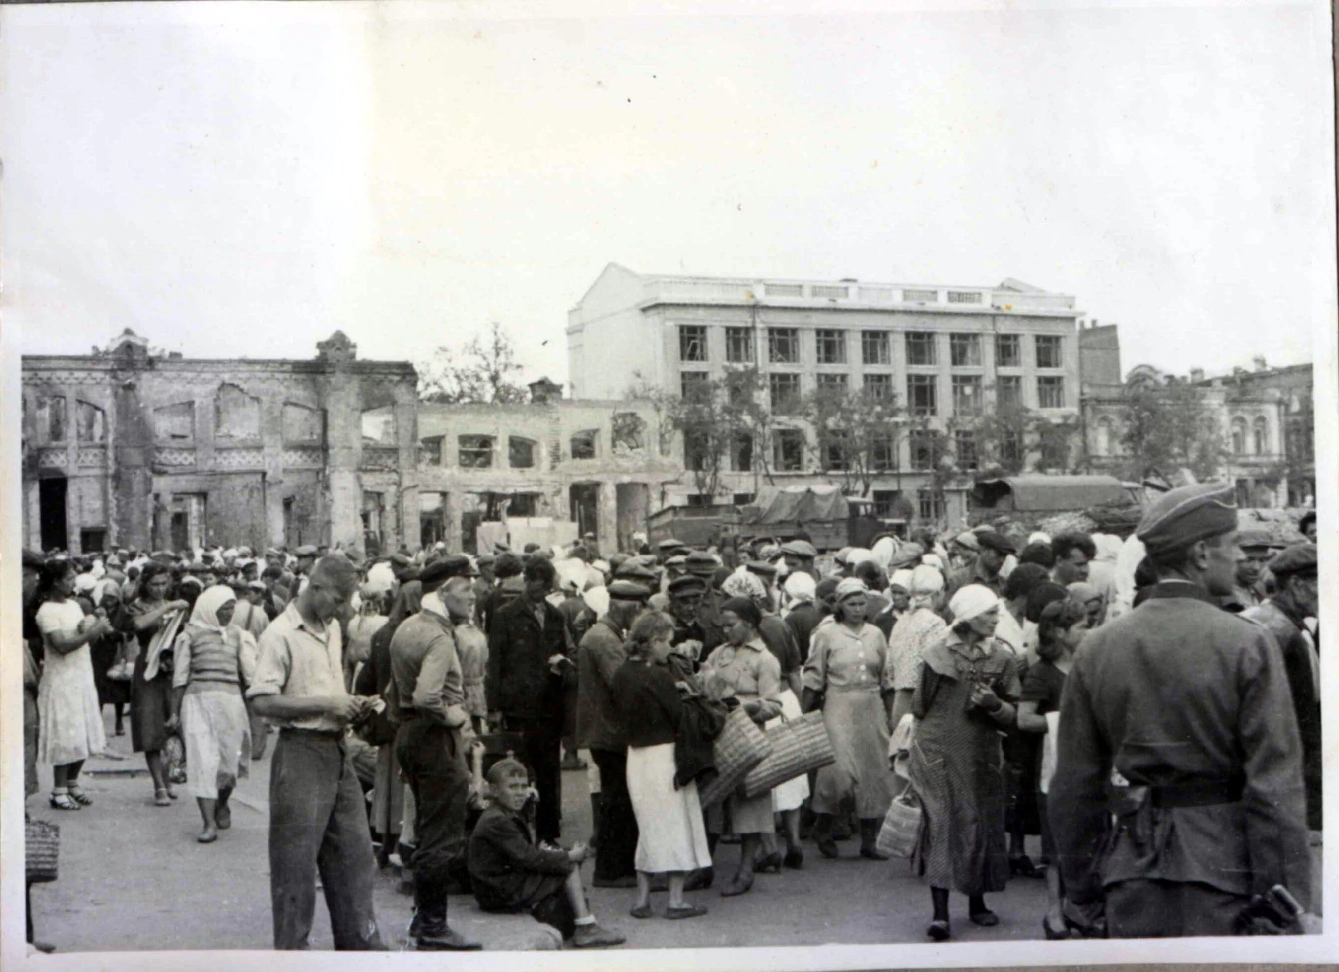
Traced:
[[[1283, 655], [1260, 625], [1200, 586], [1158, 584], [1079, 647], [1059, 724], [1047, 802], [1077, 905], [1133, 878], [1241, 896], [1283, 884], [1306, 904], [1302, 740]], [[1213, 786], [1240, 799], [1121, 817], [1103, 853], [1113, 764], [1131, 797], [1138, 787]]]

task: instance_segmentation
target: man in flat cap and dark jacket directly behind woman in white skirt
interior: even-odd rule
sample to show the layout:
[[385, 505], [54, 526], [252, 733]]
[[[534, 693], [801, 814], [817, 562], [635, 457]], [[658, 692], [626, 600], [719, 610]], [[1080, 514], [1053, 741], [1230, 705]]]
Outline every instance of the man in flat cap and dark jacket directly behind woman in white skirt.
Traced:
[[[609, 609], [596, 619], [577, 648], [577, 743], [590, 750], [600, 770], [600, 843], [595, 852], [596, 888], [635, 888], [637, 818], [628, 795], [628, 739], [613, 698], [613, 676], [628, 660], [628, 629], [651, 597], [631, 580], [609, 585]], [[595, 794], [592, 794], [592, 801]]]

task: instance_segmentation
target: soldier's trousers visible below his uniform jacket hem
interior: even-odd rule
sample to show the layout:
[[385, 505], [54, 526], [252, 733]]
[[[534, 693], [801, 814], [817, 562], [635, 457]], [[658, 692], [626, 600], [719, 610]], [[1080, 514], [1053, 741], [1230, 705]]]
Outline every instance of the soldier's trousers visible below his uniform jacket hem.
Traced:
[[1106, 889], [1111, 939], [1188, 939], [1236, 935], [1251, 898], [1206, 884], [1134, 880]]

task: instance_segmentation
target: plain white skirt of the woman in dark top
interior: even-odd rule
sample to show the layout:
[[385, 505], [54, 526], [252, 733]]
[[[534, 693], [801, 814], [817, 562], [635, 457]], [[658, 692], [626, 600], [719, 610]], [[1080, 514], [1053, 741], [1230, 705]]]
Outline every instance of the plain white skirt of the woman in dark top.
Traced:
[[674, 743], [628, 747], [628, 795], [637, 818], [633, 866], [647, 874], [711, 866], [698, 783], [674, 786]]

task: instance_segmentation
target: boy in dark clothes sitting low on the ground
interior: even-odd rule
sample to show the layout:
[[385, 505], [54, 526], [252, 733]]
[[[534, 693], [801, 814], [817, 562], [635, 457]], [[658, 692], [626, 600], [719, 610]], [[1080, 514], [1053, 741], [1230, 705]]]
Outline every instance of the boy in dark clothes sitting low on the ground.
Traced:
[[596, 924], [581, 886], [586, 847], [536, 845], [521, 811], [529, 798], [525, 767], [502, 759], [489, 770], [493, 806], [470, 835], [470, 881], [486, 912], [526, 912], [553, 925], [574, 948], [621, 945], [625, 939]]

